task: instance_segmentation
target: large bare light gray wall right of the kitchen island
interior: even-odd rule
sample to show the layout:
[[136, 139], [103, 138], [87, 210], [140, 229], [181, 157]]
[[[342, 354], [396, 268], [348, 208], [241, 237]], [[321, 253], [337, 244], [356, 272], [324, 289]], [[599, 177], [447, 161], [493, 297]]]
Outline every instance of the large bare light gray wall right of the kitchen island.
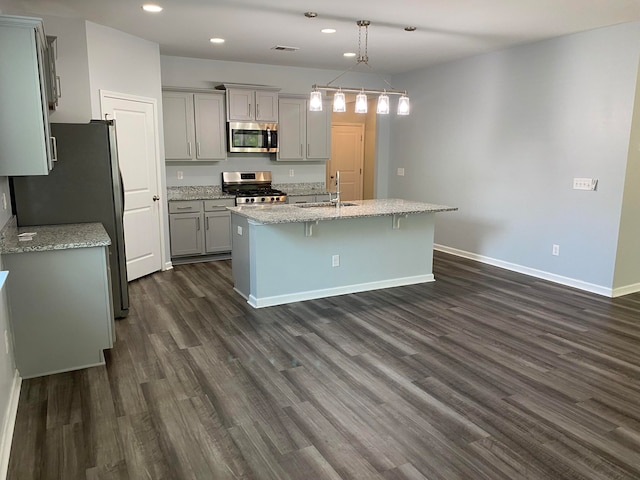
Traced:
[[639, 49], [631, 23], [394, 77], [389, 196], [459, 207], [438, 244], [611, 289]]

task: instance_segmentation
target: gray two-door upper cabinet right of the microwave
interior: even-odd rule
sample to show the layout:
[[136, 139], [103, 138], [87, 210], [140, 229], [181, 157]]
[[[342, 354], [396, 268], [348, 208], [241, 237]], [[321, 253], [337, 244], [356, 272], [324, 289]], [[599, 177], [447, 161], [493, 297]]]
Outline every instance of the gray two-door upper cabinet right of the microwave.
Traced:
[[331, 156], [331, 106], [310, 112], [306, 98], [279, 98], [278, 160], [323, 161]]

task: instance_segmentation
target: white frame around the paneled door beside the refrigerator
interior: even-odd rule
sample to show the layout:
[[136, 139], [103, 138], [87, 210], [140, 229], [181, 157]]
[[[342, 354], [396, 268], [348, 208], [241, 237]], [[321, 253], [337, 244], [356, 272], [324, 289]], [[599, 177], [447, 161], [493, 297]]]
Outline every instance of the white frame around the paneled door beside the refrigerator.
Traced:
[[[173, 264], [171, 263], [170, 257], [167, 260], [167, 241], [165, 232], [167, 230], [167, 219], [169, 218], [169, 207], [166, 200], [167, 189], [162, 188], [164, 185], [164, 165], [160, 162], [160, 122], [158, 119], [158, 100], [153, 97], [142, 97], [140, 95], [131, 95], [128, 93], [120, 93], [113, 92], [111, 90], [99, 90], [100, 92], [100, 117], [106, 120], [106, 116], [104, 114], [104, 99], [106, 97], [115, 98], [119, 100], [130, 100], [133, 102], [140, 103], [148, 103], [151, 105], [153, 109], [153, 129], [155, 131], [156, 144], [155, 144], [155, 162], [156, 162], [156, 187], [158, 191], [158, 195], [160, 196], [160, 205], [159, 207], [159, 232], [160, 236], [160, 265], [162, 271], [170, 270], [173, 268]], [[117, 127], [116, 127], [117, 128]]]

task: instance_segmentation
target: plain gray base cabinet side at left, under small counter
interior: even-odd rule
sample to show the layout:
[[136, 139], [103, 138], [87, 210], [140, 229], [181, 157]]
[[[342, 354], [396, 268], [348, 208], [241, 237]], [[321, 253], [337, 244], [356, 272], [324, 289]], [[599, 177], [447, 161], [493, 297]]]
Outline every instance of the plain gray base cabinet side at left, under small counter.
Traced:
[[115, 340], [107, 248], [2, 255], [22, 378], [104, 364]]

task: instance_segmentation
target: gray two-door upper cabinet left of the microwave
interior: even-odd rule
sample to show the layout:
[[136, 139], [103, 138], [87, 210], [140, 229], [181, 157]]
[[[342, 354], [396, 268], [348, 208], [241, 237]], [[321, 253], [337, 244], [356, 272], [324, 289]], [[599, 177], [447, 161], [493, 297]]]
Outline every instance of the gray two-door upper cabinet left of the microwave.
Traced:
[[225, 160], [224, 94], [163, 91], [166, 160]]

